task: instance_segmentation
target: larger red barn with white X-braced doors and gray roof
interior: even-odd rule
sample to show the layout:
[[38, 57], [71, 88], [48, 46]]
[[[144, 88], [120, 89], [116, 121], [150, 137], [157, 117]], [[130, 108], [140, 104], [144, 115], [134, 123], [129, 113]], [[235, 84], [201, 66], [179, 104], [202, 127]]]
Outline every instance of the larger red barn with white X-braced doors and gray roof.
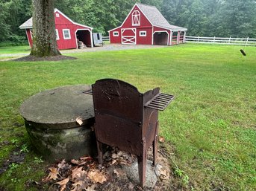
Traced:
[[134, 4], [122, 25], [109, 30], [110, 43], [175, 45], [183, 43], [187, 28], [170, 25], [157, 7]]

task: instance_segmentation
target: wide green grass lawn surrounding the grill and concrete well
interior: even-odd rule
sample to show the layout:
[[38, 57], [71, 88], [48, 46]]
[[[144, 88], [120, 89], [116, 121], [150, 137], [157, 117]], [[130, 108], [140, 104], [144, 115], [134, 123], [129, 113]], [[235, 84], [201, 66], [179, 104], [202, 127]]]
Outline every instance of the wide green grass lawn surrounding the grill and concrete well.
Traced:
[[26, 185], [40, 181], [49, 165], [31, 149], [19, 115], [22, 102], [45, 89], [106, 77], [142, 92], [159, 86], [175, 94], [160, 113], [173, 190], [256, 190], [256, 48], [245, 51], [247, 56], [238, 46], [187, 44], [69, 54], [78, 58], [72, 61], [0, 62], [0, 164], [26, 154], [0, 175], [0, 190], [37, 190]]

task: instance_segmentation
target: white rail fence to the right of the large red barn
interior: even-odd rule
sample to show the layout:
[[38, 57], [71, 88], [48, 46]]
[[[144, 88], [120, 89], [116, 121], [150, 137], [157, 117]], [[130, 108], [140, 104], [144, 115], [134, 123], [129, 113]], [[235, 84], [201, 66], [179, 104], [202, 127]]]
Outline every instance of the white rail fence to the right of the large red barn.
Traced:
[[256, 39], [241, 38], [222, 38], [222, 37], [203, 37], [203, 36], [186, 36], [186, 42], [208, 43], [208, 44], [224, 44], [224, 45], [246, 45], [256, 46]]

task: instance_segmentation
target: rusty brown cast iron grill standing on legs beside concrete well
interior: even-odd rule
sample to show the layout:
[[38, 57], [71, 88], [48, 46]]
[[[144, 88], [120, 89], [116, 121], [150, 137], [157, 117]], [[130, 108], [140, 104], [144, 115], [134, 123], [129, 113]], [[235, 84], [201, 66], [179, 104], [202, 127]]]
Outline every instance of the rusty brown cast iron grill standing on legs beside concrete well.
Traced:
[[158, 111], [163, 111], [174, 99], [160, 93], [160, 88], [141, 94], [133, 85], [114, 79], [97, 80], [92, 89], [96, 121], [99, 164], [103, 163], [102, 143], [137, 155], [140, 185], [146, 181], [147, 150], [153, 146], [156, 163]]

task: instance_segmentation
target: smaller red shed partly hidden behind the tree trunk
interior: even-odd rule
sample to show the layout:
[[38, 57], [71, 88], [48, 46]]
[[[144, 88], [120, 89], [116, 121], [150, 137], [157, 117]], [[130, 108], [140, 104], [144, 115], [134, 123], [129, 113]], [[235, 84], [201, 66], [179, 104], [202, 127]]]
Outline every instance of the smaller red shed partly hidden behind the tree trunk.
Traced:
[[[73, 22], [69, 17], [61, 13], [60, 10], [54, 9], [54, 14], [57, 47], [60, 50], [78, 48], [78, 41], [84, 42], [84, 45], [87, 47], [93, 47], [93, 27]], [[32, 17], [20, 25], [19, 28], [26, 30], [28, 43], [32, 47]]]

